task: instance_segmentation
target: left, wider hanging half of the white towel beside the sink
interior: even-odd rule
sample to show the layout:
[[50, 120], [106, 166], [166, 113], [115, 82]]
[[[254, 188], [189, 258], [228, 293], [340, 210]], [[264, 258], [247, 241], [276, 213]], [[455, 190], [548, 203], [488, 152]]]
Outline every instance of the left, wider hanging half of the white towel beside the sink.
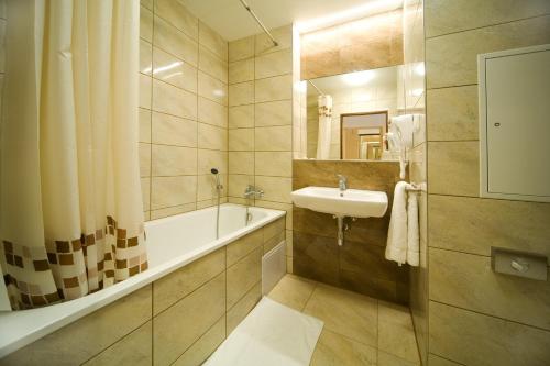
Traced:
[[386, 259], [398, 264], [407, 262], [407, 187], [406, 181], [395, 185], [394, 203], [392, 204], [392, 218], [387, 233]]

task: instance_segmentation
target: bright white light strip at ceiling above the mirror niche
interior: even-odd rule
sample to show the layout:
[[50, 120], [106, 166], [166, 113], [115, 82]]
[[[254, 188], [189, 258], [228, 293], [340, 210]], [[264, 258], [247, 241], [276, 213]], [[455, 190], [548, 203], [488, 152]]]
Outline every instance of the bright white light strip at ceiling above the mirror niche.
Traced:
[[299, 33], [312, 32], [319, 29], [344, 23], [351, 20], [364, 18], [367, 15], [380, 14], [386, 11], [395, 10], [403, 5], [403, 0], [377, 0], [355, 7], [344, 11], [332, 13], [328, 16], [317, 18], [307, 21], [298, 21], [296, 26]]

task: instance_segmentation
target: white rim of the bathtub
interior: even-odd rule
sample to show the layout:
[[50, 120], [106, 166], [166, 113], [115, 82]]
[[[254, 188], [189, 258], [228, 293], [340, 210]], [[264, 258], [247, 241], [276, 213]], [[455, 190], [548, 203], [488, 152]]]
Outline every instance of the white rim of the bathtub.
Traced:
[[[222, 203], [221, 207], [245, 207], [237, 203]], [[96, 310], [99, 310], [147, 285], [153, 281], [169, 275], [177, 269], [198, 260], [199, 258], [239, 240], [240, 237], [258, 230], [280, 218], [286, 215], [286, 211], [267, 209], [262, 207], [252, 207], [267, 213], [257, 222], [250, 226], [241, 228], [231, 233], [231, 235], [222, 236], [216, 241], [209, 242], [205, 246], [195, 248], [188, 253], [174, 257], [158, 266], [148, 268], [146, 271], [130, 277], [119, 284], [105, 288], [86, 297], [75, 299], [67, 302], [62, 302], [45, 308], [29, 309], [21, 311], [0, 312], [0, 359], [9, 354], [35, 342], [40, 339], [84, 318]], [[151, 224], [158, 224], [163, 221], [175, 220], [182, 215], [196, 214], [199, 211], [215, 210], [216, 206], [200, 210], [189, 211], [151, 220], [145, 222], [145, 228]], [[152, 314], [152, 318], [154, 315]], [[41, 321], [37, 322], [36, 319]], [[23, 326], [22, 326], [23, 325]], [[10, 330], [10, 332], [3, 331]], [[13, 330], [16, 333], [13, 334]], [[10, 334], [12, 333], [12, 334]]]

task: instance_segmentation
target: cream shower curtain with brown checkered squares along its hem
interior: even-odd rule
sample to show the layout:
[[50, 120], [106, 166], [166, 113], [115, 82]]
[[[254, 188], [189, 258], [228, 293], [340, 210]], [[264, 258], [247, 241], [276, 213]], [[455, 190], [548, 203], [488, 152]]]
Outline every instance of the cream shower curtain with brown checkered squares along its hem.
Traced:
[[135, 0], [8, 1], [1, 267], [13, 309], [147, 268]]

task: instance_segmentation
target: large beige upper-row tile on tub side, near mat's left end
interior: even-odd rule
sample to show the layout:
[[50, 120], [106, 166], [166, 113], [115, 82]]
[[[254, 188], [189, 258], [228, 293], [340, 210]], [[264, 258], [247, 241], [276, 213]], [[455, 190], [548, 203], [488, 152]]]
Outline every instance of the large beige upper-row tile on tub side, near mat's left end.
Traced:
[[[154, 364], [176, 361], [226, 312], [226, 274], [153, 319]], [[193, 314], [193, 315], [190, 315]]]

